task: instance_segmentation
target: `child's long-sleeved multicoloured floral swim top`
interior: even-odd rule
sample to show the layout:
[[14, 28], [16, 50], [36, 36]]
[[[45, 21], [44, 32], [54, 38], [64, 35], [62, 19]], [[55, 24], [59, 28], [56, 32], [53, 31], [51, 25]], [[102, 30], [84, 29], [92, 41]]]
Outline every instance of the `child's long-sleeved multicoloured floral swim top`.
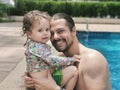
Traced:
[[71, 57], [60, 57], [51, 53], [48, 44], [28, 41], [25, 52], [28, 72], [41, 72], [52, 67], [62, 67], [74, 62]]

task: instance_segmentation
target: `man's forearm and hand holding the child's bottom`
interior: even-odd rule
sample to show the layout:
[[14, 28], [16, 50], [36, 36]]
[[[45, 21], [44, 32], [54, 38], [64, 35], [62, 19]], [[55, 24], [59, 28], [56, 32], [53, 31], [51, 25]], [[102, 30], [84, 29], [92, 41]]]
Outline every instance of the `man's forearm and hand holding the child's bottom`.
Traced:
[[25, 86], [28, 88], [36, 88], [37, 90], [64, 90], [56, 84], [51, 74], [48, 74], [46, 80], [40, 80], [38, 78], [31, 78], [25, 74]]

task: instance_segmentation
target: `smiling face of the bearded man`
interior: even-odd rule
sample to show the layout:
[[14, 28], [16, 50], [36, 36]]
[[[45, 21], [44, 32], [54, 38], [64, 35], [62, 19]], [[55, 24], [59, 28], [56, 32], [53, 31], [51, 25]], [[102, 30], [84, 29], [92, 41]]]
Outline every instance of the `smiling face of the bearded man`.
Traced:
[[66, 52], [73, 43], [73, 34], [64, 19], [51, 20], [51, 42], [60, 52]]

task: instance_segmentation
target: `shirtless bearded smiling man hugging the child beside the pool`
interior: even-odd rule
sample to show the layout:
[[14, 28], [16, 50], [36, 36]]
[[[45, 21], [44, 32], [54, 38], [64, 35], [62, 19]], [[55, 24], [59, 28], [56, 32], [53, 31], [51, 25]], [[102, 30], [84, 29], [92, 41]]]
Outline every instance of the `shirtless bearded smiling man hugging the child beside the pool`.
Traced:
[[[63, 52], [61, 55], [72, 57], [77, 54], [80, 56], [80, 63], [76, 64], [79, 72], [76, 90], [111, 90], [106, 59], [100, 52], [79, 43], [73, 19], [64, 13], [58, 13], [52, 17], [50, 24], [51, 42], [59, 52]], [[40, 88], [41, 90], [60, 90], [51, 76], [49, 77], [51, 89], [47, 89], [47, 82], [33, 79], [35, 86], [38, 88], [44, 86], [44, 89]], [[26, 85], [28, 86], [30, 85], [27, 83], [30, 83], [29, 79], [26, 78]]]

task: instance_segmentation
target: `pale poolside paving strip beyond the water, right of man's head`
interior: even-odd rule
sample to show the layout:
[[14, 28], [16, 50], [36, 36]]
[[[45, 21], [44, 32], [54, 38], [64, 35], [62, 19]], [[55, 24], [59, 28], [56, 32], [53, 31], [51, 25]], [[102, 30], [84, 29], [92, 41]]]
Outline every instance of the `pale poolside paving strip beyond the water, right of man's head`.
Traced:
[[120, 24], [75, 24], [77, 31], [120, 32]]

